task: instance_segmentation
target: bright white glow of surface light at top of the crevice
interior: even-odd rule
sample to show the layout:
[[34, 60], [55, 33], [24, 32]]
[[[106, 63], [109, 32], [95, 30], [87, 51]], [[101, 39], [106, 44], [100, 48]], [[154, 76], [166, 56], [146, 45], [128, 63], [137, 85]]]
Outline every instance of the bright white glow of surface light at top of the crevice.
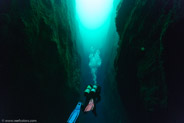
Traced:
[[76, 0], [77, 17], [88, 29], [105, 24], [113, 6], [113, 0]]

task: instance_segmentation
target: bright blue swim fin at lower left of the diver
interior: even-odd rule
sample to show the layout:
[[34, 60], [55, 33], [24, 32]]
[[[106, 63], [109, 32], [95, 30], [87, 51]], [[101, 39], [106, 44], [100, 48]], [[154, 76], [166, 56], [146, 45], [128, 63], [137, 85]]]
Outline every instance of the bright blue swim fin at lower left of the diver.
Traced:
[[78, 102], [77, 106], [75, 107], [75, 109], [71, 113], [70, 117], [68, 118], [68, 121], [67, 121], [68, 123], [75, 123], [76, 122], [76, 120], [80, 114], [81, 105], [82, 105], [82, 103]]

